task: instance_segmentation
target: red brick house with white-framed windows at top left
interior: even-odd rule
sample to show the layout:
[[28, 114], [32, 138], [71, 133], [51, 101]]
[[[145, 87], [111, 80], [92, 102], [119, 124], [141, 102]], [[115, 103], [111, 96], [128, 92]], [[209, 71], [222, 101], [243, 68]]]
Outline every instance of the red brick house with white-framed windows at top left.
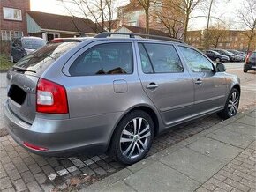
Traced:
[[1, 0], [0, 53], [8, 52], [12, 37], [27, 35], [26, 11], [30, 11], [30, 0]]

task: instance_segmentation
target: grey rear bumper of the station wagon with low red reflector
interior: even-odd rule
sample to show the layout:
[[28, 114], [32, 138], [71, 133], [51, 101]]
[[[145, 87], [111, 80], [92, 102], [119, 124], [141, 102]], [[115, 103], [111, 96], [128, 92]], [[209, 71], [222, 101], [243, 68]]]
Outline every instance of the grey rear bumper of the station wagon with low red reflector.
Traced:
[[[26, 150], [45, 156], [66, 157], [74, 153], [102, 153], [121, 114], [102, 114], [87, 118], [52, 120], [35, 117], [33, 124], [19, 119], [4, 103], [4, 120], [11, 137]], [[92, 123], [94, 122], [94, 123]], [[35, 150], [24, 142], [48, 149]]]

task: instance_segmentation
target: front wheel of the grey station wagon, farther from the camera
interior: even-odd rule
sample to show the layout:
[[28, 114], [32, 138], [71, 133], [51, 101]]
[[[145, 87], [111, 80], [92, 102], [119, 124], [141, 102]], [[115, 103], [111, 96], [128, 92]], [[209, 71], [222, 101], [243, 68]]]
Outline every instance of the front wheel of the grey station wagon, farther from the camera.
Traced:
[[224, 109], [218, 113], [218, 115], [223, 119], [229, 119], [237, 114], [239, 107], [240, 92], [236, 88], [231, 89], [228, 99], [225, 103]]

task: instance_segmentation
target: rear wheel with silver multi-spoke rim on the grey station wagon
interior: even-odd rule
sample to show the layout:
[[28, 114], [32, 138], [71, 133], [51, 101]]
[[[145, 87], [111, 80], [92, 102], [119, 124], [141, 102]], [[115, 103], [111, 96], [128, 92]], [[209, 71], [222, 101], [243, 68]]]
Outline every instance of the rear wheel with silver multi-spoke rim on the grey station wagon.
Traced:
[[109, 154], [113, 159], [125, 165], [131, 165], [143, 159], [154, 139], [154, 122], [144, 111], [133, 111], [118, 123]]

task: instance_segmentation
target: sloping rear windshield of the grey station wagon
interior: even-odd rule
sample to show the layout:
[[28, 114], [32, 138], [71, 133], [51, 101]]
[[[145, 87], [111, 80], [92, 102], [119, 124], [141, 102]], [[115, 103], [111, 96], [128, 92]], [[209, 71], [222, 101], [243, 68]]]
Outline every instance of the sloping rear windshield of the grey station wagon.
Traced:
[[64, 43], [50, 43], [32, 54], [26, 55], [15, 67], [33, 70], [36, 72], [34, 75], [46, 70], [50, 64], [54, 63], [66, 51], [74, 48], [79, 42], [64, 42]]

